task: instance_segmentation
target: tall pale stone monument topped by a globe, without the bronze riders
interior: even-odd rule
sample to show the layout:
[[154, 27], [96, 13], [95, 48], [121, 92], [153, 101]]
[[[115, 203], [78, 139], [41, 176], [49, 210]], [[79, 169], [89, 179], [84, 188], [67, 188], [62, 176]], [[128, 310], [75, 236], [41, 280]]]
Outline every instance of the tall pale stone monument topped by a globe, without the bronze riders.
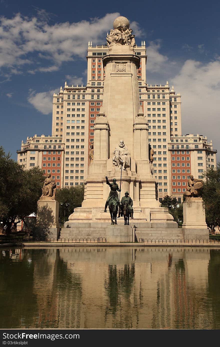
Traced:
[[[133, 200], [132, 223], [137, 226], [144, 222], [149, 228], [177, 228], [168, 209], [161, 208], [157, 200], [153, 157], [149, 158], [147, 118], [139, 107], [140, 58], [134, 52], [134, 35], [125, 17], [117, 17], [113, 28], [107, 36], [108, 53], [103, 57], [106, 75], [103, 107], [95, 120], [84, 201], [82, 207], [70, 215], [65, 228], [80, 227], [80, 223], [87, 226], [92, 223], [94, 227], [94, 223], [109, 224], [109, 211], [104, 212], [109, 194], [105, 176], [120, 184], [121, 172], [121, 197], [128, 191]], [[123, 218], [117, 222], [124, 224]]]

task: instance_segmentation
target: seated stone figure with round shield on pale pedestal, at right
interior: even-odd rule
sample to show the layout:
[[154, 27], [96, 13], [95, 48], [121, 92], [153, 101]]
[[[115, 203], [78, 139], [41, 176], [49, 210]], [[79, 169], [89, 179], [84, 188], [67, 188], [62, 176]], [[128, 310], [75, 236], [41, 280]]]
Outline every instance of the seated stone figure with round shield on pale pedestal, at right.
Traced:
[[185, 239], [208, 239], [209, 230], [205, 222], [205, 210], [202, 197], [199, 197], [199, 190], [203, 187], [203, 181], [196, 179], [193, 175], [187, 182], [185, 192], [186, 201], [183, 203], [182, 228]]

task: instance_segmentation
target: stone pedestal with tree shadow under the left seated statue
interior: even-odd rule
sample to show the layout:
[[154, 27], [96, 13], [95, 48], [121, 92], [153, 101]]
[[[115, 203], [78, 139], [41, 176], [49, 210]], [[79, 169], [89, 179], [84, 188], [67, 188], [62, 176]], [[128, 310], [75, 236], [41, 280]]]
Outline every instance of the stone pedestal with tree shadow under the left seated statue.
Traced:
[[36, 215], [36, 236], [43, 239], [59, 238], [59, 203], [49, 197], [41, 196], [38, 200]]

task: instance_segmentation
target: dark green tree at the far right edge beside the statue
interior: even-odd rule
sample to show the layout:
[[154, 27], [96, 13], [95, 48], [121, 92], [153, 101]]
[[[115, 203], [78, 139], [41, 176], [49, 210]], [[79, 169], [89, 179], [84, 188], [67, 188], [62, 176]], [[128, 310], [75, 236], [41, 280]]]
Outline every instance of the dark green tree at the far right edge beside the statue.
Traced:
[[207, 169], [204, 178], [206, 180], [200, 194], [203, 198], [206, 224], [214, 231], [220, 224], [220, 163], [216, 169]]

